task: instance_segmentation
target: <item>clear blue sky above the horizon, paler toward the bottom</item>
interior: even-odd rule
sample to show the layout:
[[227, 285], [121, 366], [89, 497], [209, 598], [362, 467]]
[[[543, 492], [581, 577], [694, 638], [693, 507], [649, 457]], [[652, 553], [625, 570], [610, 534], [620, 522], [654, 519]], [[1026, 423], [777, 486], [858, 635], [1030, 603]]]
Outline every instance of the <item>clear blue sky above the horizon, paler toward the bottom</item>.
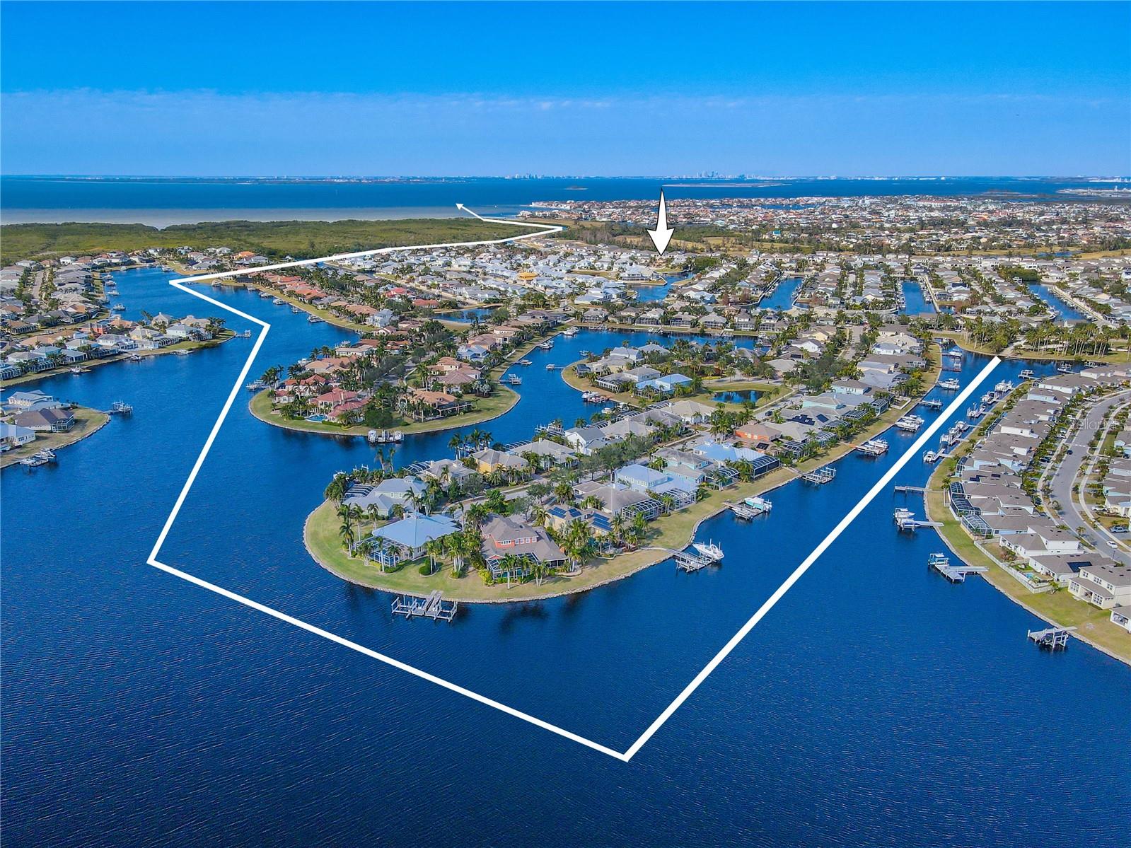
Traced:
[[1128, 174], [1129, 3], [0, 6], [3, 173]]

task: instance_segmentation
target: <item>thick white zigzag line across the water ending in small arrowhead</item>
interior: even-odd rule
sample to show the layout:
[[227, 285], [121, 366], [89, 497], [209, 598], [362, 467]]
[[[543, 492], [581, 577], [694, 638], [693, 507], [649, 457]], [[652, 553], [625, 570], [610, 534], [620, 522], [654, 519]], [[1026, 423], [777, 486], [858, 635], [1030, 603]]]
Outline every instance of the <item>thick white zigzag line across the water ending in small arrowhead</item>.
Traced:
[[399, 248], [379, 248], [375, 250], [364, 250], [355, 253], [338, 253], [336, 256], [322, 257], [320, 259], [304, 259], [294, 262], [280, 262], [278, 265], [261, 266], [258, 268], [247, 268], [236, 271], [222, 271], [218, 274], [207, 274], [198, 277], [180, 277], [178, 279], [170, 280], [170, 285], [174, 286], [175, 288], [179, 288], [182, 292], [187, 292], [188, 294], [191, 294], [195, 297], [199, 297], [202, 301], [213, 304], [214, 306], [218, 306], [219, 309], [231, 312], [232, 314], [239, 315], [240, 318], [247, 321], [257, 323], [262, 328], [262, 330], [260, 331], [259, 337], [256, 339], [256, 343], [251, 348], [251, 353], [248, 356], [247, 362], [244, 362], [243, 367], [240, 370], [239, 377], [235, 378], [235, 382], [232, 384], [232, 390], [228, 392], [227, 400], [224, 403], [223, 409], [221, 409], [219, 417], [216, 418], [216, 423], [213, 424], [211, 432], [209, 432], [208, 439], [205, 441], [204, 448], [201, 448], [200, 455], [197, 457], [197, 460], [192, 466], [192, 470], [189, 471], [188, 479], [184, 481], [184, 485], [181, 487], [181, 492], [176, 497], [176, 502], [173, 504], [173, 510], [172, 512], [169, 513], [169, 518], [165, 519], [165, 525], [161, 530], [161, 535], [157, 536], [157, 540], [154, 544], [153, 551], [150, 551], [149, 556], [146, 560], [146, 563], [148, 565], [153, 565], [156, 569], [161, 569], [162, 571], [170, 573], [173, 577], [178, 577], [181, 580], [185, 580], [187, 582], [199, 586], [202, 589], [208, 589], [209, 591], [216, 592], [217, 595], [221, 595], [227, 598], [228, 600], [234, 600], [238, 604], [243, 604], [244, 606], [250, 607], [251, 609], [256, 609], [274, 618], [278, 618], [282, 622], [292, 624], [296, 628], [305, 630], [309, 633], [313, 633], [314, 635], [328, 639], [331, 642], [336, 642], [337, 644], [340, 644], [345, 648], [355, 650], [359, 654], [364, 654], [368, 657], [372, 657], [373, 659], [380, 660], [381, 663], [390, 665], [394, 668], [398, 668], [402, 672], [407, 672], [408, 674], [414, 675], [415, 677], [420, 677], [421, 680], [428, 681], [429, 683], [434, 683], [438, 686], [442, 686], [443, 689], [447, 689], [451, 692], [456, 692], [457, 694], [464, 695], [465, 698], [469, 698], [473, 701], [478, 701], [482, 704], [492, 707], [501, 712], [506, 712], [508, 716], [513, 716], [515, 718], [521, 719], [523, 721], [527, 721], [536, 727], [541, 727], [544, 730], [549, 730], [550, 733], [562, 736], [580, 745], [590, 747], [594, 751], [599, 751], [601, 753], [607, 754], [608, 756], [612, 756], [622, 762], [629, 762], [636, 755], [636, 753], [641, 747], [645, 746], [648, 739], [650, 739], [656, 734], [656, 732], [664, 726], [664, 722], [672, 717], [672, 715], [683, 704], [683, 702], [687, 701], [688, 698], [690, 698], [691, 694], [697, 689], [699, 689], [699, 685], [705, 680], [707, 680], [707, 677], [710, 675], [711, 672], [715, 670], [715, 668], [718, 667], [719, 663], [726, 659], [726, 657], [731, 654], [731, 651], [733, 651], [737, 647], [739, 642], [741, 642], [746, 637], [746, 634], [751, 630], [753, 630], [754, 625], [758, 624], [758, 622], [760, 622], [762, 617], [765, 617], [765, 615], [774, 607], [775, 604], [777, 604], [785, 596], [787, 591], [789, 591], [793, 585], [801, 579], [802, 574], [809, 571], [810, 566], [812, 566], [812, 564], [817, 562], [817, 560], [821, 556], [821, 554], [824, 553], [824, 551], [829, 547], [829, 545], [836, 542], [837, 537], [845, 531], [848, 525], [851, 525], [854, 520], [856, 520], [860, 513], [863, 512], [864, 508], [867, 507], [872, 502], [872, 500], [888, 486], [889, 483], [891, 483], [896, 474], [898, 474], [899, 470], [903, 469], [903, 467], [908, 462], [908, 460], [926, 444], [926, 442], [931, 439], [931, 436], [933, 436], [935, 432], [939, 430], [939, 427], [942, 426], [943, 422], [946, 422], [951, 415], [953, 415], [953, 413], [961, 407], [961, 405], [974, 392], [974, 390], [978, 386], [981, 386], [990, 377], [991, 373], [993, 373], [993, 370], [1001, 362], [1001, 358], [994, 356], [993, 360], [991, 360], [990, 363], [987, 363], [986, 366], [982, 369], [978, 375], [975, 377], [974, 380], [959, 392], [958, 397], [956, 397], [950, 403], [950, 405], [939, 414], [939, 416], [927, 426], [927, 429], [918, 436], [918, 439], [915, 440], [912, 447], [908, 448], [906, 452], [904, 452], [904, 455], [896, 461], [896, 464], [891, 466], [891, 468], [889, 468], [887, 473], [879, 481], [877, 481], [877, 483], [872, 486], [872, 488], [869, 490], [867, 494], [865, 494], [861, 499], [861, 501], [855, 507], [853, 507], [852, 510], [848, 511], [848, 514], [846, 514], [843, 519], [840, 519], [840, 522], [835, 528], [832, 528], [831, 533], [829, 533], [829, 535], [826, 536], [824, 539], [815, 548], [813, 548], [813, 552], [809, 554], [809, 556], [806, 556], [805, 560], [796, 569], [794, 569], [793, 573], [791, 573], [789, 577], [785, 579], [785, 582], [783, 582], [782, 586], [779, 586], [777, 590], [772, 595], [770, 595], [769, 598], [766, 599], [766, 602], [758, 608], [758, 611], [752, 616], [750, 616], [750, 620], [742, 625], [742, 628], [731, 638], [731, 640], [725, 646], [723, 646], [723, 648], [711, 658], [711, 660], [706, 666], [703, 666], [702, 670], [700, 670], [699, 674], [697, 674], [694, 678], [683, 689], [683, 691], [675, 696], [675, 700], [672, 701], [664, 709], [664, 711], [659, 713], [656, 720], [653, 721], [651, 725], [649, 725], [648, 728], [642, 734], [640, 734], [639, 738], [637, 738], [637, 741], [633, 742], [632, 745], [630, 745], [627, 751], [623, 752], [615, 751], [606, 745], [602, 745], [601, 743], [594, 742], [593, 739], [588, 739], [585, 736], [580, 736], [576, 733], [572, 733], [571, 730], [567, 730], [563, 727], [559, 727], [558, 725], [544, 721], [543, 719], [537, 718], [536, 716], [523, 712], [521, 710], [517, 710], [513, 707], [508, 707], [507, 704], [495, 701], [491, 698], [487, 698], [486, 695], [481, 695], [478, 692], [473, 692], [458, 684], [451, 683], [450, 681], [446, 681], [442, 677], [437, 677], [435, 675], [429, 674], [428, 672], [416, 668], [415, 666], [411, 666], [407, 663], [394, 659], [392, 657], [375, 651], [372, 648], [366, 648], [363, 644], [359, 644], [357, 642], [345, 639], [344, 637], [337, 635], [336, 633], [322, 630], [321, 628], [304, 622], [301, 618], [295, 618], [294, 616], [287, 615], [286, 613], [275, 609], [273, 607], [265, 606], [264, 604], [252, 600], [251, 598], [244, 597], [243, 595], [238, 595], [234, 591], [230, 591], [228, 589], [225, 589], [221, 586], [210, 583], [207, 580], [201, 580], [198, 577], [193, 577], [188, 572], [181, 571], [180, 569], [175, 569], [172, 565], [167, 565], [157, 560], [157, 554], [161, 552], [162, 545], [165, 544], [165, 538], [166, 536], [169, 536], [169, 531], [172, 528], [173, 522], [176, 520], [176, 516], [181, 511], [181, 507], [184, 505], [184, 500], [185, 497], [188, 497], [189, 490], [192, 488], [192, 484], [197, 479], [197, 474], [199, 474], [200, 468], [204, 465], [205, 458], [208, 456], [208, 451], [211, 450], [213, 442], [215, 442], [216, 440], [216, 434], [219, 432], [221, 426], [224, 424], [224, 419], [227, 417], [227, 414], [232, 408], [232, 404], [239, 396], [240, 387], [243, 386], [244, 380], [247, 380], [248, 373], [251, 371], [251, 365], [254, 362], [256, 356], [259, 354], [259, 348], [262, 346], [264, 339], [267, 337], [267, 332], [270, 330], [270, 325], [267, 323], [266, 321], [261, 321], [260, 319], [253, 318], [252, 315], [249, 315], [245, 312], [241, 312], [238, 309], [225, 305], [224, 303], [221, 303], [219, 301], [213, 297], [201, 294], [200, 292], [196, 292], [183, 284], [200, 283], [204, 280], [219, 279], [223, 277], [232, 277], [245, 274], [260, 274], [262, 271], [277, 270], [280, 268], [294, 268], [297, 266], [316, 265], [318, 262], [327, 262], [342, 259], [354, 259], [360, 257], [374, 256], [379, 253], [391, 253], [396, 251], [431, 250], [435, 248], [463, 248], [463, 246], [477, 246], [485, 244], [501, 244], [504, 242], [518, 241], [520, 239], [530, 239], [538, 235], [556, 233], [563, 230], [563, 227], [560, 226], [551, 226], [545, 224], [529, 224], [525, 222], [507, 220], [501, 218], [484, 218], [481, 217], [480, 215], [476, 215], [470, 209], [464, 207], [463, 204], [458, 204], [457, 206], [459, 207], [459, 209], [467, 211], [470, 215], [474, 215], [476, 218], [480, 218], [480, 220], [485, 220], [493, 224], [513, 224], [516, 226], [538, 227], [538, 232], [524, 233], [521, 235], [511, 236], [509, 239], [492, 239], [492, 240], [472, 241], [472, 242], [452, 242], [447, 244], [420, 244], [420, 245], [406, 245]]

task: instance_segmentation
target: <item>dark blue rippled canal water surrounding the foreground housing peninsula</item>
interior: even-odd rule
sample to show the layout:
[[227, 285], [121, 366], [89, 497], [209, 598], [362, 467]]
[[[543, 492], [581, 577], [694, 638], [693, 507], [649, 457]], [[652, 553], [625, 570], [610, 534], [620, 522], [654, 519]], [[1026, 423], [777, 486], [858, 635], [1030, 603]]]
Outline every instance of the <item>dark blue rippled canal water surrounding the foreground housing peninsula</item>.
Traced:
[[[116, 276], [132, 308], [209, 312], [159, 272]], [[209, 293], [273, 323], [253, 373], [345, 336], [248, 292]], [[508, 441], [586, 413], [545, 363], [644, 338], [582, 332], [536, 351], [521, 401], [484, 426]], [[1131, 733], [1131, 670], [1079, 642], [1056, 656], [1033, 648], [1025, 633], [1038, 620], [979, 580], [953, 587], [927, 571], [939, 540], [897, 534], [903, 500], [887, 493], [630, 763], [145, 565], [250, 344], [40, 383], [137, 412], [60, 452], [58, 467], [2, 475], [12, 845], [1121, 838], [1112, 811], [1131, 804], [1117, 751]], [[961, 378], [978, 367], [967, 357]], [[585, 595], [474, 606], [431, 625], [392, 621], [388, 596], [331, 577], [302, 547], [329, 476], [370, 449], [264, 425], [247, 399], [164, 562], [622, 749], [910, 441], [889, 432], [886, 457], [851, 456], [827, 486], [775, 491], [766, 519], [706, 522], [700, 536], [727, 552], [720, 568], [689, 576], [664, 563]], [[397, 461], [447, 455], [449, 435], [413, 438]], [[898, 482], [926, 475], [916, 459]], [[1085, 719], [1110, 730], [1081, 733]], [[1055, 814], [1034, 815], [1037, 805]]]

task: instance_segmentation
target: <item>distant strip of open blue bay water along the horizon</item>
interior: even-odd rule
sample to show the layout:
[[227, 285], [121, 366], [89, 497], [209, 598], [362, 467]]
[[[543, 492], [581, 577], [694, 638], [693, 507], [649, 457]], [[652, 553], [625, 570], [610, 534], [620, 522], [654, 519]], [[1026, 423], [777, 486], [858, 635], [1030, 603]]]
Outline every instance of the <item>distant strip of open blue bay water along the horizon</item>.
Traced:
[[[478, 211], [513, 214], [538, 200], [654, 199], [661, 185], [670, 198], [794, 198], [907, 194], [983, 194], [1017, 192], [1047, 197], [1062, 188], [1095, 188], [1072, 179], [948, 178], [948, 179], [787, 179], [705, 182], [661, 178], [563, 178], [506, 180], [495, 178], [433, 179], [386, 182], [264, 181], [240, 179], [122, 179], [122, 178], [0, 178], [6, 219], [9, 220], [136, 220], [167, 223], [158, 210], [208, 213], [200, 220], [265, 217], [257, 213], [335, 210], [330, 217], [388, 217], [412, 214], [456, 215], [457, 202]], [[43, 215], [21, 215], [43, 210]], [[115, 215], [137, 211], [137, 215]], [[382, 213], [381, 210], [385, 210]], [[54, 211], [57, 214], [48, 214]], [[83, 213], [87, 213], [85, 216]], [[97, 214], [93, 214], [97, 213]], [[150, 213], [150, 214], [146, 214]], [[285, 217], [285, 216], [284, 216]], [[307, 216], [300, 216], [307, 217]], [[325, 216], [323, 216], [325, 217]], [[191, 219], [192, 216], [189, 215]]]

